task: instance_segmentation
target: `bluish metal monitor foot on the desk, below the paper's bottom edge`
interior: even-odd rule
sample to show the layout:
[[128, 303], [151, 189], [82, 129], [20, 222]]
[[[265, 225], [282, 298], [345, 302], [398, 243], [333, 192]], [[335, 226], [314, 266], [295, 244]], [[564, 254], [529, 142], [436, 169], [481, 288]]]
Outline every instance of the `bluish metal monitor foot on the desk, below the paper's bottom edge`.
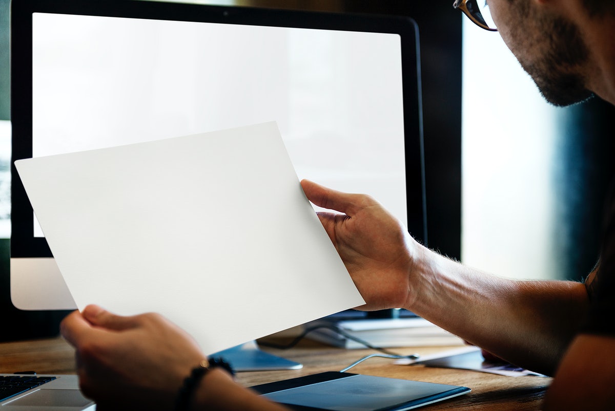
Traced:
[[298, 370], [303, 364], [261, 351], [255, 340], [211, 355], [229, 362], [236, 372]]

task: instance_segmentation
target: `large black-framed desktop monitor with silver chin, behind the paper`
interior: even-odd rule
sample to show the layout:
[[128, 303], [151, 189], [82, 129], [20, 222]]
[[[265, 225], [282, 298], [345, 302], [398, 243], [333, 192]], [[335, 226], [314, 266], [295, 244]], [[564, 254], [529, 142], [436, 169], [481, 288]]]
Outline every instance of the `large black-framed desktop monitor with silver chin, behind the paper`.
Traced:
[[[137, 0], [11, 6], [13, 161], [276, 120], [300, 178], [373, 195], [426, 243], [410, 18]], [[15, 307], [76, 308], [14, 167], [12, 181]]]

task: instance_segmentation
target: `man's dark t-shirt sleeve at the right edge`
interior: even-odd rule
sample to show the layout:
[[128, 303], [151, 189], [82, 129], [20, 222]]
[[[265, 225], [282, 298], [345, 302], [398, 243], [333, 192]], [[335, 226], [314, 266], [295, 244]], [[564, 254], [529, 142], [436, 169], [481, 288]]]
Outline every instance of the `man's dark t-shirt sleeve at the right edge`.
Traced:
[[615, 336], [615, 190], [611, 189], [608, 198], [600, 265], [593, 281], [585, 283], [590, 311], [582, 332]]

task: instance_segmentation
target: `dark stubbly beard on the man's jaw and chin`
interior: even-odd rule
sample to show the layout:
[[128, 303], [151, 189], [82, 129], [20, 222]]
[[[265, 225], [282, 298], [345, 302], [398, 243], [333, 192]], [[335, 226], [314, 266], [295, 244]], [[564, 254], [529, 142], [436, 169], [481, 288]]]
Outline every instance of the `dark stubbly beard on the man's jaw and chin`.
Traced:
[[519, 60], [530, 74], [545, 100], [554, 106], [569, 106], [593, 96], [585, 87], [581, 67], [589, 58], [589, 49], [576, 25], [562, 18], [543, 18], [539, 25], [548, 36], [547, 51], [536, 61]]

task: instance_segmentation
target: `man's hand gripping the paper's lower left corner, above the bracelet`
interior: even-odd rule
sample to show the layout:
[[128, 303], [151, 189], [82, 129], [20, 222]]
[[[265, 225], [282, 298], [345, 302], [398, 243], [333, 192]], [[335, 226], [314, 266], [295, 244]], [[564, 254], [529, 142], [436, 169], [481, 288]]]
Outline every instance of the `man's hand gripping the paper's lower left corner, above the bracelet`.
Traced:
[[188, 334], [152, 313], [117, 316], [89, 305], [68, 315], [61, 331], [76, 347], [84, 395], [101, 408], [172, 409], [184, 378], [205, 358]]

